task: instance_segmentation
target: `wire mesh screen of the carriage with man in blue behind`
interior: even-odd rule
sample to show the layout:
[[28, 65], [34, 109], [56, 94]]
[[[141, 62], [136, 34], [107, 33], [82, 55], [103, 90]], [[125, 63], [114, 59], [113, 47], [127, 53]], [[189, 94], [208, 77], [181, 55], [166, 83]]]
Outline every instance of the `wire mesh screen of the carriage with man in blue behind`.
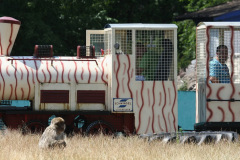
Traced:
[[[232, 71], [230, 56], [233, 55], [233, 82], [239, 83], [240, 30], [234, 30], [234, 53], [231, 50], [231, 30], [229, 28], [212, 28], [209, 31], [209, 76], [210, 83], [230, 83]], [[198, 83], [206, 82], [206, 30], [197, 30], [197, 79]]]

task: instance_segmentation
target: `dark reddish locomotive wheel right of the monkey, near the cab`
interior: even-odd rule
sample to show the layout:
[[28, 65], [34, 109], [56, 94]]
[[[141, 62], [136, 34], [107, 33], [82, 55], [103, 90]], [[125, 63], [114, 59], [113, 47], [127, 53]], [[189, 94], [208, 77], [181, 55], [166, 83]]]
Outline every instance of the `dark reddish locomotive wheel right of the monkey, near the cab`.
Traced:
[[86, 129], [86, 135], [96, 135], [96, 134], [111, 135], [114, 133], [114, 128], [109, 123], [98, 120], [92, 122]]

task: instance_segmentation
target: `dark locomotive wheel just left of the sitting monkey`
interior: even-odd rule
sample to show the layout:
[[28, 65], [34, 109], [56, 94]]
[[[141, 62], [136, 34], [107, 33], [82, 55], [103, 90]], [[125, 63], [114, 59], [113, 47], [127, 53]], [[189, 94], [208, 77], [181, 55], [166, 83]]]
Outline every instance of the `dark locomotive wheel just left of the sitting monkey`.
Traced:
[[22, 133], [42, 133], [47, 126], [40, 121], [29, 121], [22, 127]]

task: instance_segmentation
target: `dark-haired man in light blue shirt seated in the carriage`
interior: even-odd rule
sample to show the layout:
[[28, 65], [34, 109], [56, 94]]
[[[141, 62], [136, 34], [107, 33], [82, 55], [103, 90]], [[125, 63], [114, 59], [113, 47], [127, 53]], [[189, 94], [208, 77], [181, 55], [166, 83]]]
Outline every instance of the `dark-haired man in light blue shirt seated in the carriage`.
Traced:
[[209, 76], [211, 83], [230, 83], [228, 66], [228, 48], [225, 45], [217, 47], [216, 57], [209, 63]]

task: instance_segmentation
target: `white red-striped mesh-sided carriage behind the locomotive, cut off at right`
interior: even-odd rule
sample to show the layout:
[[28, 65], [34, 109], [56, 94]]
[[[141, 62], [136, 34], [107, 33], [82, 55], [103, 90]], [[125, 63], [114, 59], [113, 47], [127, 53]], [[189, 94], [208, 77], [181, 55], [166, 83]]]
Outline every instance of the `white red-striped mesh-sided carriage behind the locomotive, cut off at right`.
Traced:
[[[239, 132], [239, 29], [239, 22], [202, 22], [197, 26], [196, 130]], [[219, 46], [227, 50], [222, 62], [217, 51]], [[216, 64], [213, 66], [216, 57], [220, 57], [221, 65], [229, 73]], [[214, 74], [222, 80], [212, 82]]]

